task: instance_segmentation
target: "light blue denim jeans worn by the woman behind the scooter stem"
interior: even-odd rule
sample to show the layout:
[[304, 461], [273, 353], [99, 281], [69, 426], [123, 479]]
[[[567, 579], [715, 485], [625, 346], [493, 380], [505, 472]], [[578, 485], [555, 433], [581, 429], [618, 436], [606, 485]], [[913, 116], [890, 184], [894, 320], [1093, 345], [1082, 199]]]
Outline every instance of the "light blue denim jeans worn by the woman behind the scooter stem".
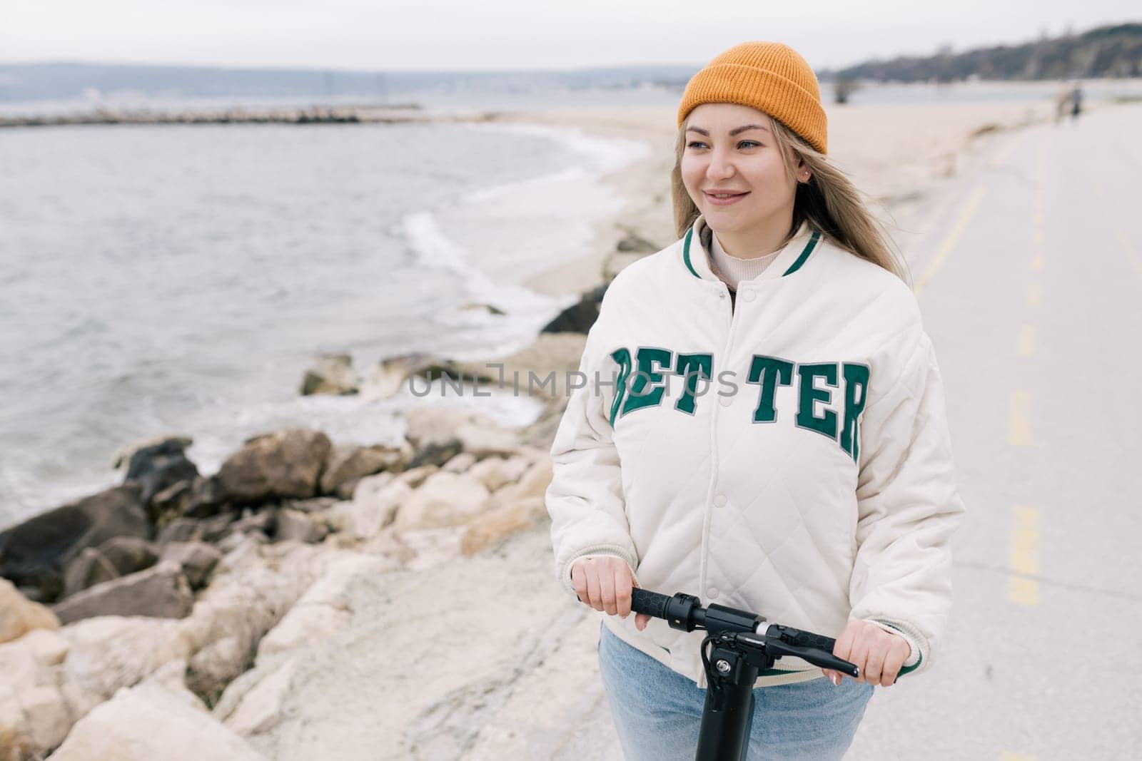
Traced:
[[[705, 689], [627, 645], [605, 624], [598, 667], [627, 761], [694, 758]], [[756, 688], [748, 760], [841, 759], [874, 689], [849, 678], [834, 687], [823, 677]]]

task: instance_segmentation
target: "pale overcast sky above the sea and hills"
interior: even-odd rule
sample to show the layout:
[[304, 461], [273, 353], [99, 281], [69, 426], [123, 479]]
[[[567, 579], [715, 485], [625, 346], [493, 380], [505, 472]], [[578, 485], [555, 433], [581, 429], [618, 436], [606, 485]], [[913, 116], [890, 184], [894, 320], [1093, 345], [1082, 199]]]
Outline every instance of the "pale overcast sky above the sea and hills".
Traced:
[[0, 62], [571, 68], [780, 40], [825, 68], [1126, 21], [1137, 0], [0, 0]]

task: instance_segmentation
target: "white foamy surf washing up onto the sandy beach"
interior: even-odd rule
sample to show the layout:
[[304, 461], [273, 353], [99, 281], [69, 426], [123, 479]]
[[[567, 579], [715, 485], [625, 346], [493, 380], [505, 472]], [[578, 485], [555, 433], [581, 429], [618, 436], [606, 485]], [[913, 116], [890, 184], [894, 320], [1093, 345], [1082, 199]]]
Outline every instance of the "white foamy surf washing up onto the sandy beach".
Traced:
[[[509, 354], [534, 340], [579, 294], [549, 297], [526, 288], [533, 275], [589, 252], [597, 220], [624, 199], [600, 180], [650, 152], [641, 140], [597, 138], [576, 128], [468, 124], [466, 129], [540, 137], [570, 148], [572, 165], [485, 187], [459, 203], [402, 220], [417, 266], [460, 277], [453, 308], [434, 310], [432, 350], [456, 359]], [[480, 308], [494, 307], [502, 314]], [[476, 308], [473, 308], [473, 307]]]

